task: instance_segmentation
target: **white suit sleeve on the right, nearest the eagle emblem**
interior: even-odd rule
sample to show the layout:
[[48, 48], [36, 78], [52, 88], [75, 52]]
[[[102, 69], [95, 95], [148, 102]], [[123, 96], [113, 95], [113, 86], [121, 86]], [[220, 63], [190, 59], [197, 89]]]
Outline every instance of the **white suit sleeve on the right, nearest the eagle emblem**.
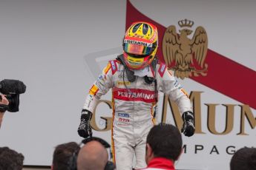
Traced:
[[191, 102], [188, 98], [186, 91], [178, 83], [176, 78], [171, 75], [171, 72], [168, 72], [165, 64], [160, 64], [160, 67], [158, 69], [158, 75], [161, 89], [165, 94], [169, 96], [171, 101], [177, 103], [180, 112], [192, 112]]

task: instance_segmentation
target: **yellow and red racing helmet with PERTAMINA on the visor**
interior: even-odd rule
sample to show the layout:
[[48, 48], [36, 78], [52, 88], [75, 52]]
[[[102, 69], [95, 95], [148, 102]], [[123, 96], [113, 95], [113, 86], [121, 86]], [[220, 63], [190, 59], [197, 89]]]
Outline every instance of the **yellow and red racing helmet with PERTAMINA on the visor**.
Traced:
[[129, 69], [143, 69], [157, 53], [157, 27], [144, 21], [131, 24], [123, 39], [123, 56]]

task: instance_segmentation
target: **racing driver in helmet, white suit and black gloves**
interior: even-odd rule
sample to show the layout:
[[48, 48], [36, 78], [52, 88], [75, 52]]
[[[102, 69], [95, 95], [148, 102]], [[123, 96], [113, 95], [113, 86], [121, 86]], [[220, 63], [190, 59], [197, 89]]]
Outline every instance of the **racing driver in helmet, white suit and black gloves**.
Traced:
[[194, 135], [190, 100], [165, 64], [157, 60], [157, 45], [157, 27], [142, 21], [131, 24], [123, 38], [122, 55], [108, 62], [89, 90], [82, 108], [78, 133], [81, 137], [91, 137], [90, 120], [96, 102], [112, 89], [112, 151], [117, 170], [131, 170], [134, 154], [135, 169], [146, 167], [145, 142], [154, 126], [160, 89], [183, 113], [184, 135]]

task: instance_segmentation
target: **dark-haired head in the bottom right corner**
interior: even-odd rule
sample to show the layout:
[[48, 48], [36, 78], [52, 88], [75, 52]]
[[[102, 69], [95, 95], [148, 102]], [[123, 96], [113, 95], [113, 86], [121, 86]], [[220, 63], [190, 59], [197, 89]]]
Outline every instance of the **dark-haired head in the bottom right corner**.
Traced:
[[255, 170], [256, 148], [244, 147], [234, 153], [230, 161], [231, 170]]

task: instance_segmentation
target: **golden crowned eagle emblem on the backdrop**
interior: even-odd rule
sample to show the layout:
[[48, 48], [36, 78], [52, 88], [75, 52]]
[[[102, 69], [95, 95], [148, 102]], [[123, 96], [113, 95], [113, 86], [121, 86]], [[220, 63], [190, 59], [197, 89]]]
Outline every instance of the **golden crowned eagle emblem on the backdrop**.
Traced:
[[[177, 78], [188, 78], [192, 75], [207, 75], [208, 65], [205, 64], [208, 50], [208, 38], [203, 27], [197, 27], [193, 38], [188, 35], [193, 33], [191, 28], [194, 21], [183, 19], [178, 21], [181, 28], [180, 34], [174, 25], [165, 30], [163, 36], [163, 58], [168, 69], [174, 69]], [[189, 27], [189, 28], [188, 28]]]

